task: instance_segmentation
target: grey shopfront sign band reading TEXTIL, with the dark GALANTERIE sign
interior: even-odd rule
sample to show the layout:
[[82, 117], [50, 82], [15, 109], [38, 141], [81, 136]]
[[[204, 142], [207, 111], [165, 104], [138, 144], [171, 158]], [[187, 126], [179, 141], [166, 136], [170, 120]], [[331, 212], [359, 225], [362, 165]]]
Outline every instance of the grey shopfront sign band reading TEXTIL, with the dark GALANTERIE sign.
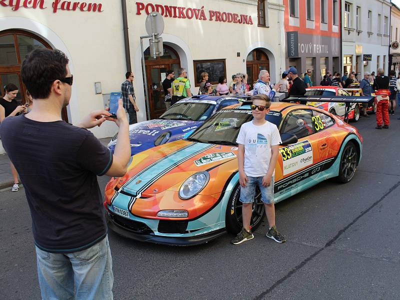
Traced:
[[286, 32], [286, 34], [287, 57], [340, 55], [340, 38], [322, 35], [298, 34], [297, 31], [289, 31]]

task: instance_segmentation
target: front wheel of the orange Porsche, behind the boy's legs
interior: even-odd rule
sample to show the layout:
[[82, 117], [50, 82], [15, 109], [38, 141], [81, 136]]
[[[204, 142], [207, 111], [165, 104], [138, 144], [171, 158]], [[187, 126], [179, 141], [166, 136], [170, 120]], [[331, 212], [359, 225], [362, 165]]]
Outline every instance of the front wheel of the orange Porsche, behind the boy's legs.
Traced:
[[[226, 205], [225, 226], [230, 233], [237, 234], [243, 226], [241, 220], [240, 185], [237, 184], [229, 197], [229, 202]], [[255, 188], [255, 199], [253, 202], [253, 213], [250, 220], [251, 230], [255, 230], [261, 223], [265, 207], [261, 201], [261, 193], [258, 187]]]

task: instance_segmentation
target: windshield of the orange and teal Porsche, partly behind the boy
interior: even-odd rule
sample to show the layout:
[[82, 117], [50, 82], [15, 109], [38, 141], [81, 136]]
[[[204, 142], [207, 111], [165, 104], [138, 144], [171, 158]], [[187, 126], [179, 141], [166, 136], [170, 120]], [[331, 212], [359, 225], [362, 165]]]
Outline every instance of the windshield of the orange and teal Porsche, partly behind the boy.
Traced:
[[[269, 111], [266, 119], [279, 125], [280, 118], [277, 120], [274, 115], [281, 114], [277, 111]], [[224, 109], [217, 112], [210, 119], [198, 127], [187, 139], [199, 142], [237, 145], [236, 137], [239, 134], [240, 126], [251, 121], [253, 116], [248, 109]]]

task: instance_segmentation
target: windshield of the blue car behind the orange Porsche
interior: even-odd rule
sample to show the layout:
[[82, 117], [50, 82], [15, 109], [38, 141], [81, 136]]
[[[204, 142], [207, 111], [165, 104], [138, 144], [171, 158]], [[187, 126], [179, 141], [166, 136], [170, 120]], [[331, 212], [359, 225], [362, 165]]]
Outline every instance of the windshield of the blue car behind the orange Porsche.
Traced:
[[212, 113], [215, 104], [181, 102], [168, 108], [160, 119], [203, 121]]

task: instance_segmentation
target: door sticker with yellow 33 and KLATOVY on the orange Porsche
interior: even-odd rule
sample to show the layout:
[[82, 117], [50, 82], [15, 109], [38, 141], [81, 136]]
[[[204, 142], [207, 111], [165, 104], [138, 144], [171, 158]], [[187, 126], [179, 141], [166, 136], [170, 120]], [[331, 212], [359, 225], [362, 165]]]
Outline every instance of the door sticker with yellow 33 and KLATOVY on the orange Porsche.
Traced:
[[312, 164], [312, 146], [304, 140], [279, 149], [283, 160], [283, 175]]

